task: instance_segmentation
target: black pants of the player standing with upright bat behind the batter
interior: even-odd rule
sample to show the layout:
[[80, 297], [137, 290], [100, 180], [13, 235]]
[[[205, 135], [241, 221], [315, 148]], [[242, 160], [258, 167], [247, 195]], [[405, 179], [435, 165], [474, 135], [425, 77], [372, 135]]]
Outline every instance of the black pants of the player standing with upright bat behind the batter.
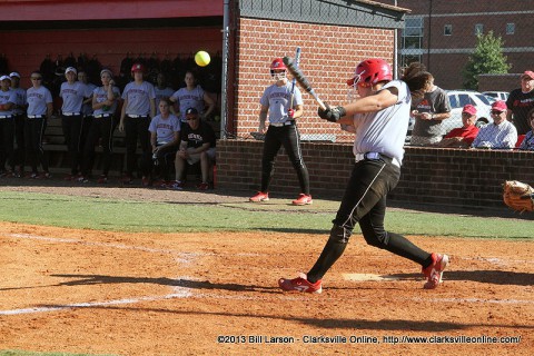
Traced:
[[275, 127], [269, 126], [264, 141], [261, 159], [261, 191], [269, 191], [269, 185], [275, 171], [275, 158], [284, 146], [293, 167], [297, 171], [300, 192], [309, 195], [308, 168], [304, 164], [300, 150], [300, 136], [296, 125]]

